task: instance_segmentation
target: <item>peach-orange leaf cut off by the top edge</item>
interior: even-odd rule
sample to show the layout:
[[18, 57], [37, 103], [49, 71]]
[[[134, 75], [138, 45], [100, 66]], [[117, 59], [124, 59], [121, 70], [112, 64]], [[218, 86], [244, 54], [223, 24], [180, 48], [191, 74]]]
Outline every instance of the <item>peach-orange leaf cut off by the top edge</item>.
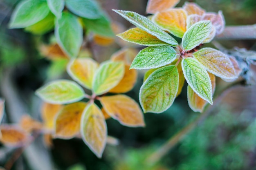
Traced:
[[156, 13], [166, 11], [172, 7], [175, 7], [180, 0], [148, 0], [146, 13]]

